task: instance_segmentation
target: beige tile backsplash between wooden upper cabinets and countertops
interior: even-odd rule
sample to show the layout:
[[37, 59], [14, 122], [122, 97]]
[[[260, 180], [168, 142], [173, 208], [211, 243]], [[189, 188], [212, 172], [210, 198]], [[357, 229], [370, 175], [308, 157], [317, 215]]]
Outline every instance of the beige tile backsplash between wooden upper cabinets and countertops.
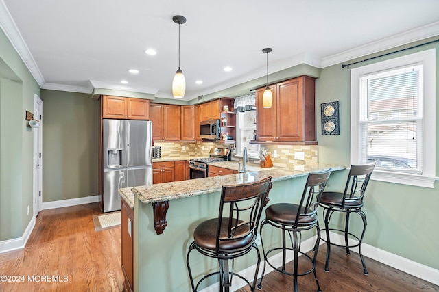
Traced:
[[[161, 146], [161, 155], [163, 157], [180, 157], [193, 156], [207, 157], [211, 148], [223, 148], [228, 145], [213, 142], [156, 142], [155, 146]], [[184, 146], [184, 147], [183, 147]], [[229, 146], [230, 147], [230, 146]], [[287, 167], [291, 165], [305, 165], [305, 163], [317, 163], [318, 146], [317, 145], [263, 145], [270, 155], [274, 166]], [[185, 148], [185, 150], [183, 150]], [[204, 148], [204, 150], [203, 150]], [[295, 152], [303, 152], [304, 160], [294, 159]], [[274, 154], [276, 153], [276, 156]], [[237, 160], [238, 157], [233, 157]], [[259, 163], [258, 159], [252, 159], [254, 163]]]

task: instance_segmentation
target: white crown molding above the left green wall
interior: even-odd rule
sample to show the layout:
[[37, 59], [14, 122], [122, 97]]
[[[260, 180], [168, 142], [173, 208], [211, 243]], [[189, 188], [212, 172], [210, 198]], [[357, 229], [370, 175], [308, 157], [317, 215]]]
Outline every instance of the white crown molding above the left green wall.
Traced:
[[8, 37], [12, 47], [14, 47], [15, 51], [19, 54], [38, 85], [42, 87], [45, 83], [44, 77], [36, 65], [34, 57], [32, 57], [27, 44], [23, 40], [23, 37], [21, 36], [19, 29], [16, 27], [15, 22], [12, 19], [12, 16], [9, 13], [8, 8], [6, 8], [3, 0], [0, 0], [0, 27], [3, 29], [3, 32]]

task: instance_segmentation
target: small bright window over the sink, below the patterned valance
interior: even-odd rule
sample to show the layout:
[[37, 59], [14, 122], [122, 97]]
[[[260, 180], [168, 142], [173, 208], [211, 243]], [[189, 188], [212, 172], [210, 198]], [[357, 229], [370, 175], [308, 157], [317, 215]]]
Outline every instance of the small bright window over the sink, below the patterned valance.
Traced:
[[248, 157], [259, 158], [259, 144], [250, 144], [256, 135], [256, 111], [237, 112], [236, 116], [236, 148], [237, 155], [241, 156], [244, 147], [247, 147]]

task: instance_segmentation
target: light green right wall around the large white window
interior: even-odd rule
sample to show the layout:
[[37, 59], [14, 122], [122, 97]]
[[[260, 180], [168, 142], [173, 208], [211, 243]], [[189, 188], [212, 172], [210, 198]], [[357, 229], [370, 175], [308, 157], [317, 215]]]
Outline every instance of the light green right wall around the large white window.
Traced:
[[[361, 59], [398, 51], [431, 40], [437, 40], [437, 37], [375, 55], [364, 56]], [[351, 68], [432, 48], [436, 48], [436, 176], [439, 176], [439, 42], [362, 62], [351, 66]], [[361, 59], [354, 59], [351, 62]], [[344, 62], [344, 64], [351, 62]], [[340, 102], [340, 135], [322, 136], [320, 116], [317, 117], [318, 155], [321, 163], [346, 166], [350, 164], [350, 83], [351, 72], [343, 69], [341, 64], [321, 70], [320, 78], [317, 81], [317, 112], [320, 112], [320, 103]], [[331, 175], [329, 189], [342, 190], [346, 175], [347, 171]], [[364, 206], [364, 212], [368, 218], [364, 243], [439, 269], [439, 249], [437, 248], [439, 233], [436, 231], [437, 207], [439, 206], [438, 187], [438, 181], [436, 181], [434, 189], [370, 181]], [[354, 221], [355, 227], [359, 227], [359, 221]]]

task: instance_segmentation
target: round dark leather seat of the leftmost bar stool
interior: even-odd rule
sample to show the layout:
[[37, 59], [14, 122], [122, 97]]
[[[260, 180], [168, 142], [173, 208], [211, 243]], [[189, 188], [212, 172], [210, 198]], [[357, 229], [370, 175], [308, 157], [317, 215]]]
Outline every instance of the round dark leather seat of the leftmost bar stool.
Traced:
[[[238, 220], [238, 224], [242, 224], [244, 221]], [[233, 225], [235, 222], [233, 222]], [[228, 218], [223, 218], [222, 228], [219, 233], [219, 237], [226, 238], [227, 232], [228, 232]], [[211, 219], [206, 220], [200, 225], [195, 228], [195, 231], [193, 232], [193, 240], [195, 241], [195, 244], [198, 245], [199, 248], [203, 248], [205, 250], [212, 250], [215, 251], [216, 248], [216, 233], [217, 233], [217, 227], [218, 227], [218, 219]], [[245, 250], [253, 243], [253, 235], [252, 233], [249, 233], [250, 229], [248, 228], [248, 225], [241, 225], [235, 230], [235, 237], [237, 239], [230, 239], [228, 241], [219, 241], [219, 252], [236, 252], [238, 250]], [[245, 235], [244, 237], [241, 237], [241, 235]]]

